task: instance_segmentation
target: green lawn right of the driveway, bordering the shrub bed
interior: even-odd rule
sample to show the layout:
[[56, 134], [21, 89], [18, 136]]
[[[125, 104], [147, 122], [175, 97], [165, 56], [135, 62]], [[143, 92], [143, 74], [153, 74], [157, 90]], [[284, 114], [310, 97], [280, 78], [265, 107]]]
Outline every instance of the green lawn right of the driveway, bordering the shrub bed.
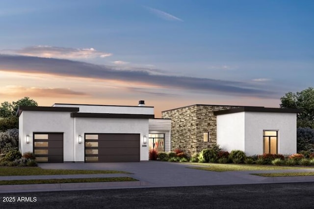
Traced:
[[257, 170], [288, 170], [288, 169], [314, 169], [313, 166], [300, 167], [300, 166], [274, 166], [274, 165], [248, 165], [248, 164], [219, 164], [219, 163], [199, 163], [199, 162], [187, 162], [185, 164], [200, 165], [191, 166], [188, 168], [207, 170], [207, 171], [257, 171]]

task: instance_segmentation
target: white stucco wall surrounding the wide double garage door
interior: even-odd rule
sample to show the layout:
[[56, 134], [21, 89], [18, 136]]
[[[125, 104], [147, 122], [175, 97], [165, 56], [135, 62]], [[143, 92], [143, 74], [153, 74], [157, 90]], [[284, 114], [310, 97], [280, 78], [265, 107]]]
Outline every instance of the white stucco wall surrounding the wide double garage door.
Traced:
[[148, 160], [148, 144], [142, 147], [143, 136], [148, 140], [148, 119], [123, 118], [76, 118], [76, 138], [82, 136], [82, 143], [75, 143], [76, 161], [84, 161], [84, 133], [140, 133], [140, 160]]

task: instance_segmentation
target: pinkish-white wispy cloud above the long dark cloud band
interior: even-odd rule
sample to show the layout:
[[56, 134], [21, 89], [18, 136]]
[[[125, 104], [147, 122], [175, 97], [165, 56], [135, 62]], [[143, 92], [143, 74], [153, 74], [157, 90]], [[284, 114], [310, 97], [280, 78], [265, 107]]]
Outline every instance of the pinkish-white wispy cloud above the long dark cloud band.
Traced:
[[4, 52], [13, 52], [15, 54], [26, 56], [38, 56], [46, 58], [61, 58], [61, 59], [87, 59], [95, 57], [111, 56], [111, 53], [99, 52], [94, 48], [88, 49], [73, 49], [65, 47], [52, 46], [31, 46], [19, 50], [6, 50]]

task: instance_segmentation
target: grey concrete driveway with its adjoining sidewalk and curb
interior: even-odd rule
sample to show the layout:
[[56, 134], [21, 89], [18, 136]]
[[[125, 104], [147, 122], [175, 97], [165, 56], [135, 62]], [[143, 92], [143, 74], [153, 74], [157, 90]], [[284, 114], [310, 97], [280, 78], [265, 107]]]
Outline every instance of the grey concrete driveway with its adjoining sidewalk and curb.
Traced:
[[0, 193], [169, 186], [314, 182], [314, 176], [269, 178], [250, 175], [251, 173], [308, 172], [314, 171], [314, 169], [212, 172], [187, 168], [192, 167], [193, 165], [159, 161], [119, 163], [41, 163], [39, 164], [39, 166], [43, 169], [117, 170], [130, 172], [132, 174], [10, 176], [0, 177], [0, 180], [132, 177], [139, 181], [108, 183], [0, 185]]

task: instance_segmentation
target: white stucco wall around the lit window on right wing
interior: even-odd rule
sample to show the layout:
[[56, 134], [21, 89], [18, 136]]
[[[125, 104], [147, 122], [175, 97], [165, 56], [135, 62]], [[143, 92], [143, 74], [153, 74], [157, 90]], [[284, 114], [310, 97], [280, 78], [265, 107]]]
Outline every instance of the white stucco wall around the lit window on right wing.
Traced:
[[245, 112], [245, 153], [263, 153], [263, 130], [278, 131], [278, 153], [296, 153], [296, 113]]

